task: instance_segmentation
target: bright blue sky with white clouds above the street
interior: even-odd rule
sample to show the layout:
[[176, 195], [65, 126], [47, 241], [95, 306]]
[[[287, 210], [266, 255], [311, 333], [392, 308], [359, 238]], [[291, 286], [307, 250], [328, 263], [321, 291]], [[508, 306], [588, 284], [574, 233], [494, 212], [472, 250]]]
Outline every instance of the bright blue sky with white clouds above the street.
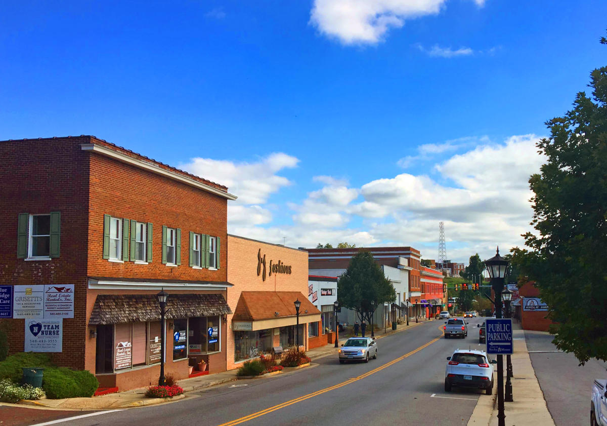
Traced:
[[605, 64], [607, 4], [413, 3], [5, 4], [0, 139], [178, 165], [240, 196], [230, 232], [290, 246], [433, 258], [440, 220], [459, 261], [521, 244], [533, 143]]

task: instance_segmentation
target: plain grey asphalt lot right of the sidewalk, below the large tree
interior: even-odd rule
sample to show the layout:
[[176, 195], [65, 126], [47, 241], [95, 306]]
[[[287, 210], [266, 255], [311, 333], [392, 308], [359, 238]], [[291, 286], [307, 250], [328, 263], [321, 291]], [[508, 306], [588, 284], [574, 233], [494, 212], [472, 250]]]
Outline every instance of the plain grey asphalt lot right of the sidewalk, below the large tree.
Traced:
[[590, 360], [579, 366], [573, 354], [557, 351], [551, 343], [552, 338], [547, 332], [525, 331], [531, 365], [540, 382], [548, 411], [557, 426], [589, 424], [592, 382], [607, 377], [607, 365]]

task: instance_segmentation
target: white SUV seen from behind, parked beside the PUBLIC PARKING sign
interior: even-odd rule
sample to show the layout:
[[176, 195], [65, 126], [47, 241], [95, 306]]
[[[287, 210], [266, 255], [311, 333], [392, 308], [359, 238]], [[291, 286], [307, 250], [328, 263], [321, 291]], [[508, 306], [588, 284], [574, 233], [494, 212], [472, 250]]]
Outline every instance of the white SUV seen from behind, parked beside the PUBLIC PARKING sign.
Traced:
[[451, 386], [484, 389], [487, 395], [493, 392], [493, 364], [497, 361], [489, 360], [487, 352], [456, 349], [447, 360], [446, 392], [451, 391]]

